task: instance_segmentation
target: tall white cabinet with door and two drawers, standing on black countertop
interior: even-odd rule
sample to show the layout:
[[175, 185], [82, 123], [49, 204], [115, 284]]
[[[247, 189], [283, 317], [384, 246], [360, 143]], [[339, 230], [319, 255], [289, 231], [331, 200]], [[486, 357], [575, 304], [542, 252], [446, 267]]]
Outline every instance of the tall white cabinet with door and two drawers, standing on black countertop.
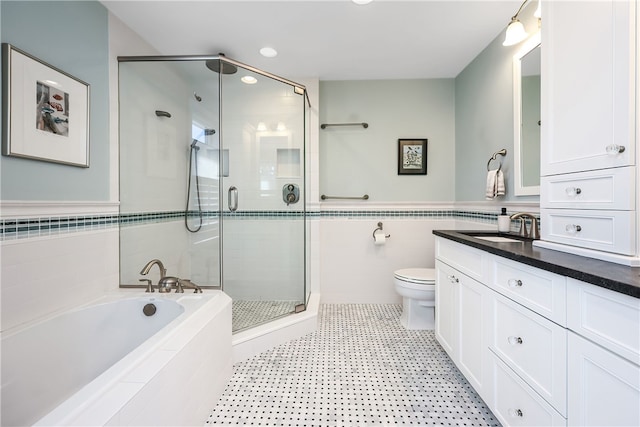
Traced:
[[627, 265], [640, 264], [636, 9], [546, 1], [542, 25], [540, 246]]

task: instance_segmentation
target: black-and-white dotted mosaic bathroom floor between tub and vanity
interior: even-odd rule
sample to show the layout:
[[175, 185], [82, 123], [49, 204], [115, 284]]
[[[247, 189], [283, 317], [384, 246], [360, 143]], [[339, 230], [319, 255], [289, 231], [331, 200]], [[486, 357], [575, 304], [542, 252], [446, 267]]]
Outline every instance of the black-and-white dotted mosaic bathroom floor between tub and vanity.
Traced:
[[234, 365], [205, 425], [499, 425], [433, 331], [405, 330], [400, 311], [322, 305], [316, 332]]

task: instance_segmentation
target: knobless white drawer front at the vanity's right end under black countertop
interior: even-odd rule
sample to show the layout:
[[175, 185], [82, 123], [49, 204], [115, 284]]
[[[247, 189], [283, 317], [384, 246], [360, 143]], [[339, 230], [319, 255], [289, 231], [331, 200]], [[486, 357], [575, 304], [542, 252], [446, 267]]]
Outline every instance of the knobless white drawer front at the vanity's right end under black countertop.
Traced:
[[640, 365], [640, 299], [569, 278], [569, 329]]

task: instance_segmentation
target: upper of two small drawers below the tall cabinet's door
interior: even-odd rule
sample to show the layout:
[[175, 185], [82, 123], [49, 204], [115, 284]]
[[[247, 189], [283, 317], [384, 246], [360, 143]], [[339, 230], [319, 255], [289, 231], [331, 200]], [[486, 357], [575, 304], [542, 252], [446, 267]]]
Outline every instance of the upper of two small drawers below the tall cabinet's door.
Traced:
[[635, 168], [611, 168], [542, 177], [540, 205], [545, 208], [632, 210]]

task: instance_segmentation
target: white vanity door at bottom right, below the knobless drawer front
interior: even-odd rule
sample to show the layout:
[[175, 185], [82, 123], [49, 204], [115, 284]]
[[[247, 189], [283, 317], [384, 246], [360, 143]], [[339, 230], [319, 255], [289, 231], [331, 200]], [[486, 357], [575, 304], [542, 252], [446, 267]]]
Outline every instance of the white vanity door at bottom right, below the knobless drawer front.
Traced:
[[569, 424], [640, 425], [640, 367], [569, 332]]

